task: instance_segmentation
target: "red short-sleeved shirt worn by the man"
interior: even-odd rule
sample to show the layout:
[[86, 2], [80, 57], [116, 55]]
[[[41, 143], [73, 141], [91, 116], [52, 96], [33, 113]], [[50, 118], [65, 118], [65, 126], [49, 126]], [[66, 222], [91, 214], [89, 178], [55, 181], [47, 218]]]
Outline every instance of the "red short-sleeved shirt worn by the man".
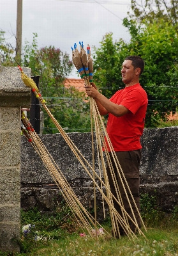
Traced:
[[[140, 136], [144, 131], [145, 114], [147, 110], [147, 93], [134, 84], [117, 91], [110, 101], [130, 110], [124, 116], [108, 115], [107, 132], [114, 151], [130, 151], [142, 148]], [[108, 148], [108, 151], [110, 149]]]

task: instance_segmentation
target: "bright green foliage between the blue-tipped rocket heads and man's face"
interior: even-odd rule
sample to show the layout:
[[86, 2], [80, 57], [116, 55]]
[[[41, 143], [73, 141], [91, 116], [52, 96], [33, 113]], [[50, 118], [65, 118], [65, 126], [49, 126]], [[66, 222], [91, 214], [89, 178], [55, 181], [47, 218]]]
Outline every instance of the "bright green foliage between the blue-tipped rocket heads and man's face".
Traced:
[[119, 88], [124, 88], [122, 78], [118, 74], [124, 61], [124, 52], [121, 49], [124, 42], [112, 42], [112, 33], [103, 36], [101, 47], [94, 47], [94, 82], [103, 89], [103, 94], [111, 97]]

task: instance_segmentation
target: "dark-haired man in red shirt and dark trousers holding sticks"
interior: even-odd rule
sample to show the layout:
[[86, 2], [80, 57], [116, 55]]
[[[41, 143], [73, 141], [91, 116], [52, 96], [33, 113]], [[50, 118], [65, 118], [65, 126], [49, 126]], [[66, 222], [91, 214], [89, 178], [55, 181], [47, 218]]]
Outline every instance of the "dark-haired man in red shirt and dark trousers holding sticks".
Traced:
[[[100, 115], [108, 114], [107, 133], [139, 211], [139, 165], [142, 148], [140, 145], [140, 136], [142, 136], [144, 131], [145, 113], [148, 103], [147, 93], [139, 83], [139, 78], [143, 71], [144, 60], [139, 56], [128, 56], [124, 60], [121, 69], [122, 81], [126, 86], [124, 89], [117, 91], [110, 99], [107, 99], [104, 95], [98, 92], [94, 83], [92, 84], [93, 86], [85, 85], [87, 95], [96, 100]], [[107, 151], [110, 152], [109, 147], [107, 148]], [[111, 154], [110, 157], [112, 159]], [[133, 218], [124, 188], [122, 188], [122, 182], [117, 174], [114, 159], [112, 159], [112, 166], [117, 177], [124, 209], [128, 212], [131, 218]], [[109, 170], [110, 169], [107, 166], [110, 190], [115, 198], [117, 198], [112, 175]], [[129, 192], [128, 197], [130, 198], [131, 207], [135, 214], [138, 227], [141, 227], [140, 216], [135, 208], [135, 204], [133, 204]], [[119, 204], [114, 202], [114, 207], [122, 216]], [[131, 230], [135, 232], [135, 225], [133, 222], [129, 220], [129, 224]], [[121, 236], [124, 235], [124, 230], [121, 225], [119, 225], [119, 233]], [[116, 234], [116, 236], [118, 236], [118, 234]]]

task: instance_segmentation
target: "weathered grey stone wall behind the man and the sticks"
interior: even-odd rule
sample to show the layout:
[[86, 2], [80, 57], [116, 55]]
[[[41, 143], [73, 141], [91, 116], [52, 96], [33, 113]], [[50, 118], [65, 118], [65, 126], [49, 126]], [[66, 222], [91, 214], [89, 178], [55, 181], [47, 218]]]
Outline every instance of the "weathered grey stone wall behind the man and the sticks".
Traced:
[[[156, 195], [158, 205], [170, 211], [178, 202], [178, 127], [145, 129], [142, 136], [142, 163], [140, 165], [140, 193]], [[68, 134], [92, 164], [91, 133]], [[54, 157], [71, 188], [87, 209], [94, 206], [93, 182], [78, 162], [61, 134], [46, 134], [41, 140]], [[96, 145], [94, 150], [96, 153]], [[96, 156], [96, 154], [95, 154]], [[62, 200], [59, 189], [43, 166], [33, 147], [22, 136], [21, 145], [21, 207], [38, 207], [51, 211]], [[98, 159], [95, 159], [96, 172]], [[101, 195], [96, 191], [98, 216], [102, 218]], [[105, 205], [107, 211], [107, 205]]]

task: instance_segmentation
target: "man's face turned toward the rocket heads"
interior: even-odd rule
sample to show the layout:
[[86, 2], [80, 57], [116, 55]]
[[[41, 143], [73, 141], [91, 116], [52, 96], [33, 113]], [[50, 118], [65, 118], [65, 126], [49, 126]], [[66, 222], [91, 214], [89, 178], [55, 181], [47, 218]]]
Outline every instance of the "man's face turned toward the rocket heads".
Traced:
[[138, 68], [135, 68], [134, 70], [134, 67], [131, 63], [131, 60], [124, 60], [122, 64], [121, 74], [124, 84], [130, 84], [138, 78]]

